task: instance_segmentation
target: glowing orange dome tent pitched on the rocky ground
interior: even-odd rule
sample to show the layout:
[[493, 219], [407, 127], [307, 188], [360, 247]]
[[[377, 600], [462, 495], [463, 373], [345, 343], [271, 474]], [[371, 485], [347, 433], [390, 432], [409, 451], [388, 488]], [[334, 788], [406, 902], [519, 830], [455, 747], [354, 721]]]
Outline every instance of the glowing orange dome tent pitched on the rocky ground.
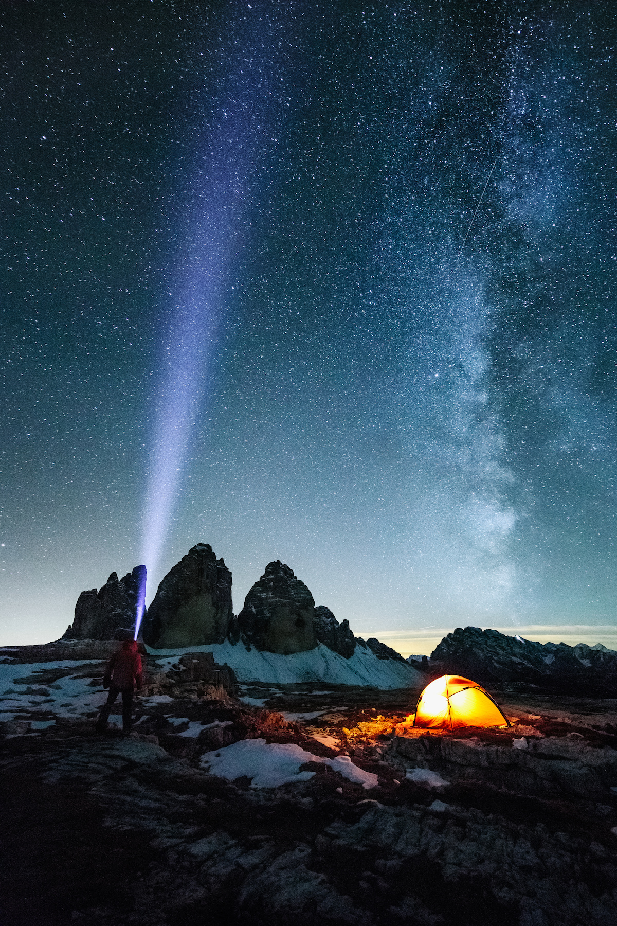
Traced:
[[426, 685], [415, 708], [414, 727], [509, 727], [510, 723], [481, 685], [460, 675], [442, 675]]

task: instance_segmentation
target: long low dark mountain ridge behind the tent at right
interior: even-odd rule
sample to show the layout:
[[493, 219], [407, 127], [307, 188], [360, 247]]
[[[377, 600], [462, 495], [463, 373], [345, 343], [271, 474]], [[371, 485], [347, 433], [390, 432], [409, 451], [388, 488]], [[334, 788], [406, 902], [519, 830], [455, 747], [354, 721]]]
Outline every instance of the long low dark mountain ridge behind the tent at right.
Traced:
[[431, 675], [459, 674], [500, 687], [617, 694], [617, 653], [600, 644], [540, 644], [478, 627], [458, 627], [444, 637], [431, 654], [429, 669]]

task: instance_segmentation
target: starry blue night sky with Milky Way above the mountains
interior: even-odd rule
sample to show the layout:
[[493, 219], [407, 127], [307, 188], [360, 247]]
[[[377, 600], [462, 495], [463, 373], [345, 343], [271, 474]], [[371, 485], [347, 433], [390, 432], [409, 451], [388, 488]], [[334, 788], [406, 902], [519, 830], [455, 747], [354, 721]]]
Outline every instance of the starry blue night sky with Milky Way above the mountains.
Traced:
[[614, 5], [195, 6], [0, 13], [2, 642], [198, 542], [236, 612], [604, 639]]

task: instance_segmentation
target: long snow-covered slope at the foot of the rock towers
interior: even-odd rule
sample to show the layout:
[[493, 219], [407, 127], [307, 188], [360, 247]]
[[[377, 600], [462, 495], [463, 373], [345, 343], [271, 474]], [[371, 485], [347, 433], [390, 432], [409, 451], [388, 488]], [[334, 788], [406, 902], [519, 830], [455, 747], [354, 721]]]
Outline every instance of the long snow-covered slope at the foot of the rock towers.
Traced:
[[253, 647], [247, 650], [243, 644], [232, 645], [228, 640], [223, 644], [185, 649], [155, 650], [149, 646], [146, 649], [153, 656], [159, 657], [160, 662], [170, 662], [172, 660], [166, 657], [182, 656], [184, 653], [212, 653], [219, 665], [227, 662], [239, 682], [329, 682], [334, 685], [365, 685], [383, 689], [423, 688], [426, 683], [425, 676], [409, 664], [396, 659], [378, 659], [370, 649], [364, 649], [363, 646], [356, 646], [349, 659], [339, 656], [324, 644], [317, 644], [315, 649], [290, 656], [266, 653]]

